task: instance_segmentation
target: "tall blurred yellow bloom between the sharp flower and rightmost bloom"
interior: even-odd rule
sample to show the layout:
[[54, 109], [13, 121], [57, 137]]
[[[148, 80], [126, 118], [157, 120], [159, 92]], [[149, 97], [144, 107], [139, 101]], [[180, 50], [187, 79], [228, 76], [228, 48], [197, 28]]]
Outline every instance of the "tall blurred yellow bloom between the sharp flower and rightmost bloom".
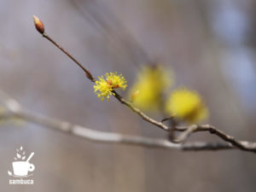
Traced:
[[145, 66], [129, 91], [131, 102], [143, 110], [157, 110], [160, 108], [161, 96], [171, 85], [172, 72], [167, 73], [160, 66]]

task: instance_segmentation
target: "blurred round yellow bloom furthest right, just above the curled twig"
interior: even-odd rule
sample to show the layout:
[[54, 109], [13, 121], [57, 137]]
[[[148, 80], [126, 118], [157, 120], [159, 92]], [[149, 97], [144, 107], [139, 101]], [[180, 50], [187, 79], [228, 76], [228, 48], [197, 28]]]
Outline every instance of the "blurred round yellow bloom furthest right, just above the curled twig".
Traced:
[[207, 118], [208, 110], [201, 96], [194, 90], [179, 88], [173, 90], [167, 99], [166, 112], [188, 123], [197, 123]]

